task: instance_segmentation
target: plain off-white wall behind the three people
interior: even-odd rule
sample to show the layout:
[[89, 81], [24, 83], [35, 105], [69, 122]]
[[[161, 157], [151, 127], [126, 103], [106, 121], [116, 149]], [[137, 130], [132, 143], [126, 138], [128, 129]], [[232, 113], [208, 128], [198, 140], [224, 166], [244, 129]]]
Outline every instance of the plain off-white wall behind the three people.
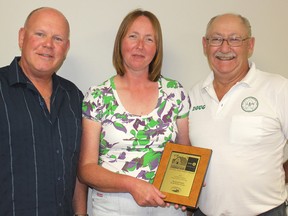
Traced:
[[250, 19], [256, 47], [251, 60], [262, 70], [288, 78], [287, 0], [0, 0], [0, 66], [19, 55], [18, 29], [28, 13], [40, 6], [61, 10], [71, 25], [71, 49], [58, 72], [85, 92], [115, 74], [112, 49], [123, 17], [135, 8], [159, 18], [164, 36], [163, 75], [188, 90], [209, 68], [201, 37], [209, 19], [235, 12]]

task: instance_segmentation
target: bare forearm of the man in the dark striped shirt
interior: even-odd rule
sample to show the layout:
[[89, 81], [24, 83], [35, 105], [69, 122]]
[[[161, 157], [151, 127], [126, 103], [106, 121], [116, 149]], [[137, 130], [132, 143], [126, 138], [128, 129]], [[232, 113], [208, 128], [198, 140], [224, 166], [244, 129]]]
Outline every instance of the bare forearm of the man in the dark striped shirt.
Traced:
[[88, 187], [82, 184], [78, 178], [76, 178], [76, 185], [73, 196], [73, 210], [74, 215], [85, 216], [87, 215], [87, 195]]

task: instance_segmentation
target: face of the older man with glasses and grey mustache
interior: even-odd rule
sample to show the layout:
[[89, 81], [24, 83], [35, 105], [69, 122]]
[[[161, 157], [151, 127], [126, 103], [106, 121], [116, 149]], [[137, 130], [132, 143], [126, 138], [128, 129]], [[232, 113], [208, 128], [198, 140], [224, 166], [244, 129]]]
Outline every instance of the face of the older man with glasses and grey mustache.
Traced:
[[[240, 39], [240, 46], [231, 46], [225, 40], [220, 46], [213, 46], [206, 38], [233, 38]], [[206, 37], [202, 39], [204, 54], [215, 76], [237, 74], [248, 71], [248, 58], [253, 53], [254, 38], [249, 38], [248, 30], [241, 19], [235, 15], [217, 17], [207, 30]]]

